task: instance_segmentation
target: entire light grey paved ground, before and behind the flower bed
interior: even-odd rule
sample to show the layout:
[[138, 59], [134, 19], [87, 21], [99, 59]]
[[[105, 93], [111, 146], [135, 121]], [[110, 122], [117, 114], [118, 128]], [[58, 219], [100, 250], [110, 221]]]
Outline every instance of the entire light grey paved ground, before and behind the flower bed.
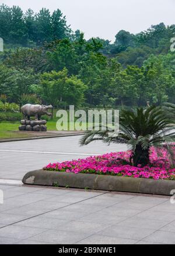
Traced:
[[[78, 137], [0, 144], [2, 179], [63, 161], [125, 150]], [[0, 185], [1, 244], [175, 244], [175, 204], [167, 196]]]

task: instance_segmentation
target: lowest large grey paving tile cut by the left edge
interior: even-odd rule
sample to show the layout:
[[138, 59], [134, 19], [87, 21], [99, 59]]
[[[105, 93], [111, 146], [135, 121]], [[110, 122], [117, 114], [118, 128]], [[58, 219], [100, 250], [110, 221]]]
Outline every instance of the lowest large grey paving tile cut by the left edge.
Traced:
[[0, 229], [0, 237], [16, 238], [16, 239], [25, 239], [36, 234], [40, 234], [46, 231], [46, 229], [36, 229], [33, 227], [20, 227], [15, 225], [10, 225], [2, 227]]

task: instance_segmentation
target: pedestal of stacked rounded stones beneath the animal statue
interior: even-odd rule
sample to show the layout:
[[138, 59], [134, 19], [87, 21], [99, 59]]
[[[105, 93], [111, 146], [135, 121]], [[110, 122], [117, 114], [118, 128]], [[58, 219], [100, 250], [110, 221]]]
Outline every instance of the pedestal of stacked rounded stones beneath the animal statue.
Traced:
[[20, 120], [20, 131], [47, 132], [46, 120]]

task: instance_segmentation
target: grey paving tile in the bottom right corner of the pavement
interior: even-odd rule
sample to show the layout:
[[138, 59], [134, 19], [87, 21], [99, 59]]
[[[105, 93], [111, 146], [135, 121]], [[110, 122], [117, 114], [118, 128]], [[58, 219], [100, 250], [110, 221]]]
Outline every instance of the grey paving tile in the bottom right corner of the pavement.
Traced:
[[144, 238], [143, 241], [152, 243], [175, 244], [175, 232], [158, 230]]

